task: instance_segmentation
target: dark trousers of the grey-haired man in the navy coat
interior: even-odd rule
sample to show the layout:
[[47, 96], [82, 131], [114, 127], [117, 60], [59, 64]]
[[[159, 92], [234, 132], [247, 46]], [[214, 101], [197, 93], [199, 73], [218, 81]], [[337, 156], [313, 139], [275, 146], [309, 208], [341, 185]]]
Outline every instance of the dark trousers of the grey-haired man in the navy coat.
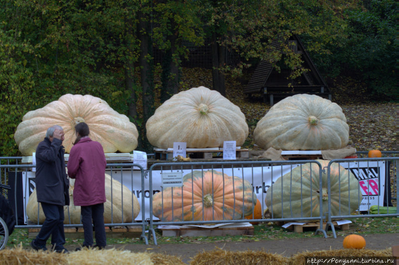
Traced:
[[35, 244], [43, 247], [51, 236], [51, 245], [55, 245], [55, 250], [64, 249], [64, 207], [55, 204], [41, 203], [46, 219], [36, 236]]

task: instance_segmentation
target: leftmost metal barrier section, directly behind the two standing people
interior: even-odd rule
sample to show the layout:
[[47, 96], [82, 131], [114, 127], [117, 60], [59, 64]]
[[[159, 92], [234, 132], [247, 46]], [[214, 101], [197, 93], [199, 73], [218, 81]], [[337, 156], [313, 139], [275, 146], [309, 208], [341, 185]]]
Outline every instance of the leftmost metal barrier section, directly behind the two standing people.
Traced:
[[[34, 172], [32, 167], [34, 166], [29, 164], [0, 165], [0, 170], [3, 174], [2, 181], [12, 187], [7, 199], [16, 217], [15, 228], [41, 228], [41, 224], [44, 222], [44, 213], [39, 207], [35, 196], [33, 196], [33, 200], [28, 202], [29, 195], [34, 195], [32, 193], [35, 192], [33, 190]], [[133, 172], [136, 172], [136, 177], [133, 177]], [[137, 178], [137, 172], [140, 172], [139, 178]], [[122, 175], [124, 176], [122, 177]], [[146, 225], [148, 225], [145, 220], [145, 210], [140, 209], [136, 194], [128, 188], [138, 186], [141, 190], [144, 190], [144, 169], [140, 165], [132, 163], [107, 164], [105, 182], [107, 202], [104, 204], [104, 225], [107, 227], [141, 226], [140, 239], [148, 244], [145, 234]], [[73, 183], [74, 179], [70, 179], [72, 186]], [[144, 196], [141, 196], [141, 205], [145, 205]], [[27, 209], [28, 206], [29, 210]], [[28, 211], [31, 214], [30, 218], [28, 217]], [[140, 212], [141, 222], [135, 222], [135, 218]], [[80, 219], [80, 207], [74, 206], [73, 200], [71, 200], [70, 206], [64, 207], [64, 213], [64, 227], [83, 227]]]

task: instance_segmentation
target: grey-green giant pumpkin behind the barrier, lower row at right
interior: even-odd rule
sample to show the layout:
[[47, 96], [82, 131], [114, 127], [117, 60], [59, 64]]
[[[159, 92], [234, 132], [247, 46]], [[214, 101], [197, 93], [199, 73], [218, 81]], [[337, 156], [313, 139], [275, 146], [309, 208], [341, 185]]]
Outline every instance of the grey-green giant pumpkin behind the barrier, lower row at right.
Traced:
[[350, 215], [359, 208], [362, 193], [359, 181], [338, 163], [331, 164], [331, 194], [328, 194], [327, 165], [329, 160], [317, 160], [321, 163], [322, 186], [320, 186], [319, 165], [305, 163], [279, 177], [267, 189], [265, 203], [273, 218], [301, 218], [320, 216], [320, 196], [323, 211], [328, 211], [328, 198], [331, 199], [331, 214]]

